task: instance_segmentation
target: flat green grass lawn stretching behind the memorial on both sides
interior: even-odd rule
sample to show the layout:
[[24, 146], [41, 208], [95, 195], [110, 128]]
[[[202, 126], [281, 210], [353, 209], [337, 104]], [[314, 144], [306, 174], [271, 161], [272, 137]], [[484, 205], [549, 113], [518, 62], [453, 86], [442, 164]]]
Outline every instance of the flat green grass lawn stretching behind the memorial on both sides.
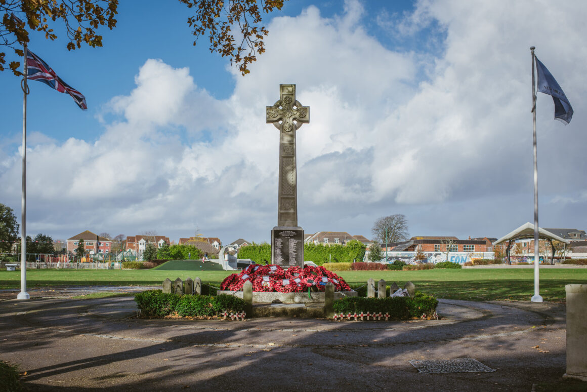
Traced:
[[[166, 278], [200, 277], [218, 286], [230, 271], [207, 270], [27, 270], [27, 285], [141, 286], [161, 284]], [[534, 294], [534, 269], [438, 269], [423, 271], [337, 272], [349, 284], [365, 284], [372, 277], [400, 287], [410, 280], [416, 289], [439, 298], [474, 301], [529, 300]], [[19, 271], [0, 271], [0, 289], [20, 287]], [[587, 284], [587, 269], [542, 269], [540, 295], [545, 301], [565, 301], [565, 284]]]

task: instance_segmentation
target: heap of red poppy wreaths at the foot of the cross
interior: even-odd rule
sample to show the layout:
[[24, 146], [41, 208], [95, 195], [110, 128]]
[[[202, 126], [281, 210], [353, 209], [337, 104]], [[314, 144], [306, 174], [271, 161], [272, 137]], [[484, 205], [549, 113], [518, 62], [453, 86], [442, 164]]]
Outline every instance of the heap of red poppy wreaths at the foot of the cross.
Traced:
[[284, 270], [280, 266], [269, 264], [261, 266], [251, 264], [238, 274], [231, 274], [220, 284], [220, 290], [237, 292], [242, 290], [245, 282], [252, 283], [254, 292], [301, 293], [308, 290], [323, 292], [326, 283], [332, 282], [339, 292], [352, 289], [345, 280], [324, 267], [298, 266]]

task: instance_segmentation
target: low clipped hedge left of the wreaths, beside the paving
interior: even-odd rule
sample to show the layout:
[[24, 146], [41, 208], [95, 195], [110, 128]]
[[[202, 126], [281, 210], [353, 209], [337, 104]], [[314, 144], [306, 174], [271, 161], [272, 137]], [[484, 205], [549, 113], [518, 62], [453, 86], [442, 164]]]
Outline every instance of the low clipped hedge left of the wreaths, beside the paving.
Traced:
[[235, 296], [197, 296], [163, 293], [162, 290], [146, 290], [134, 296], [141, 314], [164, 317], [177, 312], [179, 316], [217, 316], [222, 311], [244, 310], [245, 301]]

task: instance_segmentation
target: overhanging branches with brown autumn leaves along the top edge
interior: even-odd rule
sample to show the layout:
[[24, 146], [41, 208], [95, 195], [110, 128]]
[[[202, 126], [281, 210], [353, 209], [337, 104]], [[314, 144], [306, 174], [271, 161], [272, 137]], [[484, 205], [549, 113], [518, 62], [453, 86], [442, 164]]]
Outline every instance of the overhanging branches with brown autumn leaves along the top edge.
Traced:
[[[269, 31], [262, 25], [264, 14], [281, 10], [287, 0], [179, 0], [190, 13], [187, 24], [192, 29], [194, 46], [198, 38], [207, 35], [210, 52], [227, 56], [242, 75], [249, 73], [248, 65], [265, 52], [263, 39]], [[12, 19], [11, 14], [16, 18]], [[102, 46], [100, 26], [116, 27], [118, 0], [0, 0], [0, 46], [12, 49], [20, 58], [23, 43], [29, 42], [29, 31], [45, 33], [55, 40], [56, 31], [65, 30], [66, 48], [70, 51], [88, 45]], [[236, 33], [232, 29], [236, 28]], [[235, 37], [236, 35], [236, 37]], [[0, 71], [4, 71], [6, 52], [0, 52]], [[20, 61], [11, 61], [8, 68], [17, 75]]]

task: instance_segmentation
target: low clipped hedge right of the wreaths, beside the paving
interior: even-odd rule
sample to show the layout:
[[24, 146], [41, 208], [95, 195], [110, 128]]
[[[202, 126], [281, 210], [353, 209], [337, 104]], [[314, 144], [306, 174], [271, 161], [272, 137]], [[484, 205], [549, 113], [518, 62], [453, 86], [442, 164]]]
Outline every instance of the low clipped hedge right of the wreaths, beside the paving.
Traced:
[[365, 297], [344, 297], [334, 301], [336, 313], [389, 313], [392, 320], [409, 320], [414, 317], [421, 317], [422, 314], [430, 316], [436, 311], [438, 300], [434, 296], [416, 292], [411, 297], [387, 297], [365, 298]]

